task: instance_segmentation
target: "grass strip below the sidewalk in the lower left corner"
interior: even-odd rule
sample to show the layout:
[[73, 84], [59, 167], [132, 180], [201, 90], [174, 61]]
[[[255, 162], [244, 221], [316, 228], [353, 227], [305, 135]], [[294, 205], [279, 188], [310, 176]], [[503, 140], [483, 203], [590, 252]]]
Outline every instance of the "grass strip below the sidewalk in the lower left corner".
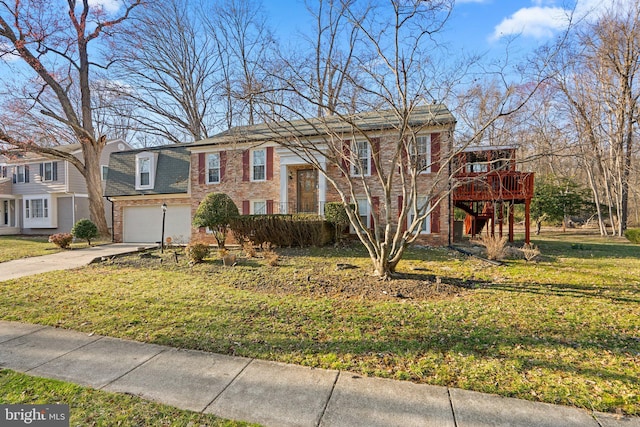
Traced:
[[68, 404], [71, 426], [220, 426], [247, 424], [183, 411], [136, 396], [107, 393], [0, 369], [0, 403]]

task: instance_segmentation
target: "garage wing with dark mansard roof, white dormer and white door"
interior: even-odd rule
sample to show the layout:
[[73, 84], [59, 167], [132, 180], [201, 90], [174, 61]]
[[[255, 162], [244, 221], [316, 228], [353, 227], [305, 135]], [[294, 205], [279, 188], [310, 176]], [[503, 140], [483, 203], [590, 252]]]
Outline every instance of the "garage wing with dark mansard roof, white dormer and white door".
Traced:
[[[111, 154], [105, 197], [113, 203], [113, 240], [187, 243], [191, 237], [190, 154], [168, 145]], [[166, 213], [162, 205], [166, 204]]]

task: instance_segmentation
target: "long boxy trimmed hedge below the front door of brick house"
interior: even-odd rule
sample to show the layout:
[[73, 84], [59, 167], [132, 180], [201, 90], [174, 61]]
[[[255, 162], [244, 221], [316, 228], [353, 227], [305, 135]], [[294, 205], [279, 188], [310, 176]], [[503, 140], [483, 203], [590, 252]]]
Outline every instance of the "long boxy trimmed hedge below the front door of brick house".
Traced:
[[231, 221], [238, 242], [262, 246], [269, 242], [279, 247], [323, 246], [331, 241], [332, 230], [321, 216], [242, 215]]

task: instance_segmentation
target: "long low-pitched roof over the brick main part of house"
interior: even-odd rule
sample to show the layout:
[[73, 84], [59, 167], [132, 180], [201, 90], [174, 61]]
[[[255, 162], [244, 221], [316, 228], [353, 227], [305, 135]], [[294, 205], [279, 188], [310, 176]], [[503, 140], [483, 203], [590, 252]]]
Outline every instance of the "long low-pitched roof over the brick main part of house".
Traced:
[[[410, 126], [438, 126], [453, 124], [455, 117], [443, 104], [423, 105], [411, 112]], [[353, 134], [356, 127], [361, 131], [393, 129], [398, 125], [394, 111], [369, 111], [352, 116], [327, 116], [300, 119], [252, 126], [238, 126], [211, 138], [192, 143], [191, 146], [217, 145], [237, 142], [268, 141], [286, 137], [310, 137], [315, 135]]]

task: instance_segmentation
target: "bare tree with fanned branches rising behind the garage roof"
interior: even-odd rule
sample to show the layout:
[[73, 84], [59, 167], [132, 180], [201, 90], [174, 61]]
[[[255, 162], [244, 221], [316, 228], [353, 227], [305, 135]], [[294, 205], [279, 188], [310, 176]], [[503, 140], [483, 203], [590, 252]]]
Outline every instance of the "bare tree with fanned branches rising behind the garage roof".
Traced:
[[157, 2], [122, 34], [113, 90], [135, 105], [137, 131], [179, 143], [207, 138], [218, 126], [221, 62], [200, 18], [193, 2]]

